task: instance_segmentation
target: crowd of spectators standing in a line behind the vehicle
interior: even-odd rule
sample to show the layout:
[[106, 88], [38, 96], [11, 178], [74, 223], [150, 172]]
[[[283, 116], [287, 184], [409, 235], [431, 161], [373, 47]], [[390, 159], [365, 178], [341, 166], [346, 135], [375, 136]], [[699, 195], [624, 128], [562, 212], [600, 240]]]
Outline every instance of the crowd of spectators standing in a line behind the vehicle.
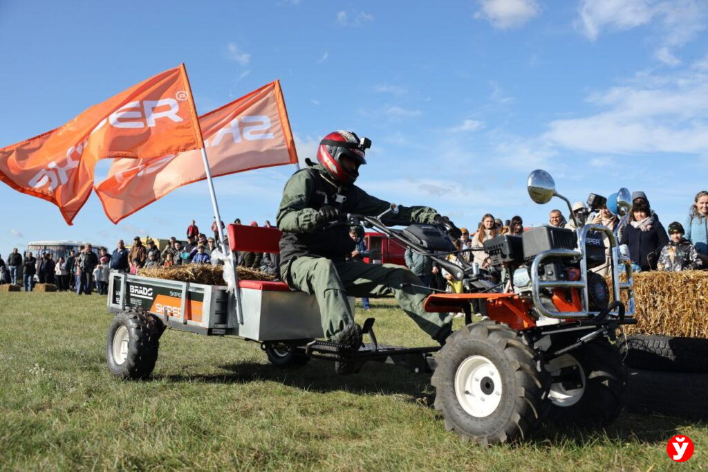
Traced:
[[[566, 218], [561, 210], [551, 210], [548, 225], [565, 227], [571, 230], [586, 223], [605, 225], [614, 230], [619, 224], [619, 217], [606, 206], [591, 213], [583, 202], [573, 203], [572, 214]], [[234, 224], [240, 225], [241, 220], [236, 218]], [[255, 221], [251, 226], [258, 226]], [[221, 223], [225, 230], [224, 223]], [[265, 221], [264, 227], [272, 227]], [[50, 254], [33, 254], [27, 252], [24, 256], [14, 248], [7, 260], [0, 254], [0, 284], [12, 283], [21, 285], [25, 291], [33, 291], [35, 279], [39, 283], [52, 283], [59, 291], [75, 291], [78, 295], [91, 295], [93, 291], [105, 295], [108, 293], [108, 278], [110, 271], [137, 273], [143, 267], [179, 266], [184, 264], [223, 264], [224, 254], [220, 249], [219, 228], [216, 219], [212, 222], [213, 237], [206, 237], [200, 232], [195, 220], [191, 221], [186, 231], [186, 242], [171, 237], [168, 244], [160, 251], [154, 240], [147, 240], [144, 244], [140, 237], [133, 239], [130, 249], [125, 247], [122, 240], [118, 241], [112, 253], [105, 247], [98, 249], [98, 254], [93, 252], [90, 244], [79, 247], [78, 253], [69, 251], [67, 257], [55, 257]], [[467, 228], [460, 228], [462, 235], [455, 242], [458, 249], [473, 249], [462, 252], [459, 256], [450, 254], [451, 262], [460, 264], [460, 259], [465, 262], [476, 262], [481, 269], [489, 269], [491, 259], [484, 252], [484, 242], [498, 235], [521, 235], [524, 231], [523, 219], [515, 215], [506, 224], [500, 219], [495, 219], [491, 213], [486, 213], [480, 220], [476, 231], [469, 232]], [[356, 249], [352, 252], [353, 259], [363, 259], [368, 256], [362, 229], [353, 230], [351, 237], [355, 241]], [[223, 231], [222, 231], [223, 234]], [[610, 269], [610, 251], [605, 245], [605, 264], [594, 271], [607, 275]], [[668, 227], [663, 226], [659, 216], [651, 208], [649, 199], [642, 191], [632, 193], [632, 209], [629, 213], [629, 223], [622, 227], [618, 234], [619, 244], [626, 246], [627, 254], [632, 259], [634, 271], [683, 271], [690, 269], [708, 268], [708, 191], [696, 194], [689, 213], [682, 223], [674, 221]], [[421, 278], [426, 286], [438, 290], [458, 293], [462, 291], [462, 284], [447, 273], [429, 257], [421, 256], [406, 249], [406, 265]], [[236, 262], [239, 266], [248, 269], [264, 271], [268, 274], [279, 276], [280, 257], [278, 254], [238, 252]], [[20, 277], [19, 274], [22, 274]], [[369, 303], [365, 299], [365, 310]]]

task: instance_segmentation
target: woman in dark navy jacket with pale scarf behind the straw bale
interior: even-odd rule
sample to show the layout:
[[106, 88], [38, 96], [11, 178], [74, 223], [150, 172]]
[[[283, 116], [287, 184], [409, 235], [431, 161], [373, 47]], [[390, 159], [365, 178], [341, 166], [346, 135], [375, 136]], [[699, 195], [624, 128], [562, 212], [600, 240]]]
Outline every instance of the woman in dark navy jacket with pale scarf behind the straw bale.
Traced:
[[642, 271], [656, 269], [661, 248], [668, 242], [666, 230], [653, 218], [646, 203], [636, 203], [632, 207], [632, 216], [619, 244], [629, 246], [629, 257]]

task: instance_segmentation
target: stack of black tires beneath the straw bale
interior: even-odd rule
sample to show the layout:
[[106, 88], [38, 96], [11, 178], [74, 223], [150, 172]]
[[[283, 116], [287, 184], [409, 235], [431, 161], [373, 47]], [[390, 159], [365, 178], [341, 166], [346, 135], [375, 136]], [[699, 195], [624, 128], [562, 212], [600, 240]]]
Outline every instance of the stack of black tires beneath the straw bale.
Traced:
[[627, 409], [691, 420], [708, 418], [708, 339], [627, 335]]

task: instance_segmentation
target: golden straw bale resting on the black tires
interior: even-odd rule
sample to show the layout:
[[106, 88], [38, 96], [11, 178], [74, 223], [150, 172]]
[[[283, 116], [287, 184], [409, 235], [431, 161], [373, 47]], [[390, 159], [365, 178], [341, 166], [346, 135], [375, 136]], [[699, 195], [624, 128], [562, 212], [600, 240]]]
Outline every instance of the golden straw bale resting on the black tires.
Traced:
[[637, 324], [625, 329], [645, 335], [708, 338], [707, 288], [708, 271], [634, 274]]

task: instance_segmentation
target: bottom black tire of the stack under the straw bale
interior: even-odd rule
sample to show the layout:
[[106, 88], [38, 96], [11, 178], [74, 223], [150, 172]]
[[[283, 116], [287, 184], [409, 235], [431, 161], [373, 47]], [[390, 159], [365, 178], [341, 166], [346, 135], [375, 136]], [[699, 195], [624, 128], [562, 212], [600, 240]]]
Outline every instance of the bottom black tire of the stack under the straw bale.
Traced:
[[708, 373], [629, 369], [627, 410], [708, 419]]

